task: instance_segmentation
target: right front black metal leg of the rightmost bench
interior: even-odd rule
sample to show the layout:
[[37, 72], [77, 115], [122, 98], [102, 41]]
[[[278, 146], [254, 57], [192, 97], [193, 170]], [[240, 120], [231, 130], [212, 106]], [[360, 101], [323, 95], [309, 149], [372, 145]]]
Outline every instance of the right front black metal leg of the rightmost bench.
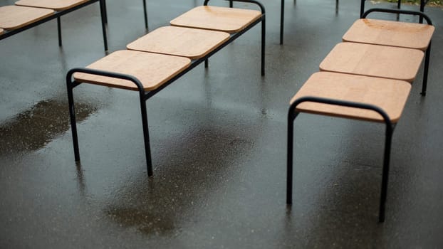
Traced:
[[394, 126], [391, 124], [386, 124], [385, 155], [383, 157], [383, 173], [382, 173], [382, 189], [381, 189], [381, 195], [380, 195], [380, 210], [378, 213], [378, 221], [380, 223], [385, 221], [387, 180], [389, 179], [389, 163], [390, 163], [392, 133], [393, 132], [394, 132]]

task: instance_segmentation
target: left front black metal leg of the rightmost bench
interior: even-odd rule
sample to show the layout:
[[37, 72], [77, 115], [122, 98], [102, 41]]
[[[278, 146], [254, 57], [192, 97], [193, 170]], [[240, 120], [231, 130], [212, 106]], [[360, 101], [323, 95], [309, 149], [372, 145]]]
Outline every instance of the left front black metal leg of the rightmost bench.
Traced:
[[293, 123], [297, 116], [295, 105], [288, 112], [288, 152], [286, 154], [286, 204], [292, 204], [292, 181], [293, 181]]

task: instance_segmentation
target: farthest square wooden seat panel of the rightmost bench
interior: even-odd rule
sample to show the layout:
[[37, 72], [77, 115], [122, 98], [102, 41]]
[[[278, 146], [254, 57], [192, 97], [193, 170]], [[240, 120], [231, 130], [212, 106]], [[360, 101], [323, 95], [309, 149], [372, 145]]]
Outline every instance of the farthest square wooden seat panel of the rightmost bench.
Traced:
[[343, 41], [402, 48], [427, 49], [434, 26], [420, 23], [358, 19], [343, 36]]

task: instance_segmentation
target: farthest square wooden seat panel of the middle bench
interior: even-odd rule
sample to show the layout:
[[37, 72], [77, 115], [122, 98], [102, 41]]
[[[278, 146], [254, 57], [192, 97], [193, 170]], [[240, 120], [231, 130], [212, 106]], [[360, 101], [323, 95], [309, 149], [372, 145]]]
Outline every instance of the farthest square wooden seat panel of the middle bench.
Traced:
[[217, 6], [198, 6], [174, 18], [172, 26], [236, 33], [261, 17], [260, 11]]

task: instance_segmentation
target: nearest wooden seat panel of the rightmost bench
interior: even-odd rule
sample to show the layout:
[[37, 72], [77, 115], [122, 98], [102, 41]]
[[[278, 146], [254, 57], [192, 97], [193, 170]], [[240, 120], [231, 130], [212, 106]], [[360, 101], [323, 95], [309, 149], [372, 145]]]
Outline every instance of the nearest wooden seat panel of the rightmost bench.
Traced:
[[[306, 96], [365, 103], [380, 107], [390, 117], [391, 122], [395, 123], [402, 115], [410, 90], [410, 83], [403, 80], [320, 72], [311, 75], [311, 78], [291, 99], [291, 103]], [[384, 122], [383, 117], [375, 111], [353, 107], [302, 102], [296, 110], [333, 117]]]

